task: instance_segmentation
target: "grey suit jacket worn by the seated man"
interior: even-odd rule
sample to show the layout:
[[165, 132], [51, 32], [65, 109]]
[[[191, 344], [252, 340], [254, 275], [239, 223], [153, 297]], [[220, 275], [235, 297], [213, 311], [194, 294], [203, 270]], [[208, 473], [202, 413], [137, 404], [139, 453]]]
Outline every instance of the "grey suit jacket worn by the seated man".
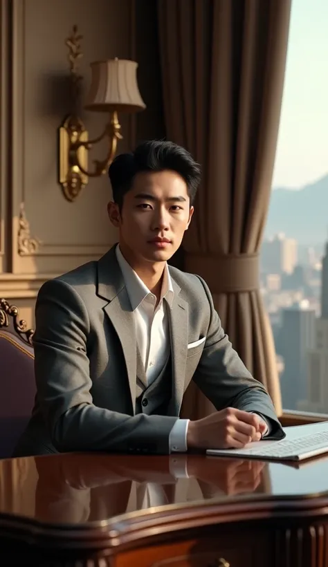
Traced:
[[[221, 327], [206, 283], [170, 268], [172, 398], [167, 415], [136, 415], [134, 314], [115, 247], [47, 281], [36, 306], [37, 398], [15, 456], [70, 451], [166, 454], [183, 393], [194, 380], [215, 407], [262, 413], [283, 437], [266, 390]], [[201, 345], [188, 344], [206, 337]]]

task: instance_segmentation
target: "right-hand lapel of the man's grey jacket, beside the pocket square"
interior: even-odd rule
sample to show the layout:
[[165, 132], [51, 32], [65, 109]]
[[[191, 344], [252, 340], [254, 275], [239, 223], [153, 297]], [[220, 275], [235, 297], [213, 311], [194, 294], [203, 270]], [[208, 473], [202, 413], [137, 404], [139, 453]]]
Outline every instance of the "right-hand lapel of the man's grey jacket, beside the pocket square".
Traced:
[[172, 279], [174, 301], [168, 309], [172, 352], [172, 399], [169, 415], [179, 416], [184, 386], [185, 364], [188, 354], [188, 304], [179, 296], [181, 288]]

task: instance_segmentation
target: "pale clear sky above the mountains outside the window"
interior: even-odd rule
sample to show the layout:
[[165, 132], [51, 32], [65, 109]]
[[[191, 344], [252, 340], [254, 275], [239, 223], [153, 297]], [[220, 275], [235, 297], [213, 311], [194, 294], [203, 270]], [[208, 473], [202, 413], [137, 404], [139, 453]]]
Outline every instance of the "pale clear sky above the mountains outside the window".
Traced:
[[328, 0], [293, 0], [273, 187], [328, 174]]

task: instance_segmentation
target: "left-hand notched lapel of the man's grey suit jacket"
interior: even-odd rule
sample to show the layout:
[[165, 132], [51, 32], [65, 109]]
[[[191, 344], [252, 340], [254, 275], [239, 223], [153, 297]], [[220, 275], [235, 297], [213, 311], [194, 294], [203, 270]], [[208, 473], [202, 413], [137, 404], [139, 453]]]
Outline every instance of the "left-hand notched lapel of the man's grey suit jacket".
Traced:
[[118, 265], [113, 246], [107, 254], [98, 261], [98, 295], [108, 299], [109, 303], [104, 306], [113, 328], [115, 329], [127, 367], [131, 401], [136, 411], [136, 331], [134, 314], [131, 308], [125, 281]]

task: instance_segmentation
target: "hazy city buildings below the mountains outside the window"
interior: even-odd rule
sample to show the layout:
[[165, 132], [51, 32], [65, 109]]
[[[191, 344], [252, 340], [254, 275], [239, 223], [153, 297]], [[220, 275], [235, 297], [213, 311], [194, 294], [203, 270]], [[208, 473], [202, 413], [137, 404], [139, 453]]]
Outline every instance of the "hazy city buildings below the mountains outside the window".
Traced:
[[286, 236], [262, 248], [261, 289], [286, 410], [328, 413], [327, 240], [323, 257], [309, 248], [301, 263], [298, 243]]

